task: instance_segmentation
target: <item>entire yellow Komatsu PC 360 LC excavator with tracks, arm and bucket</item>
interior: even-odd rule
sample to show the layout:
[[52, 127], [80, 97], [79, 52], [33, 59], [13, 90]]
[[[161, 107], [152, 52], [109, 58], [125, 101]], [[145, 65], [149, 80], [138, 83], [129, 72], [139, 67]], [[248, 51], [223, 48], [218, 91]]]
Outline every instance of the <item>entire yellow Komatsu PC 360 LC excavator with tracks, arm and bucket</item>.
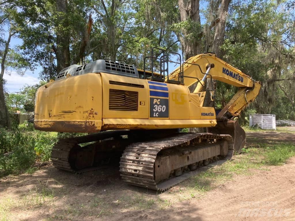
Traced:
[[[189, 171], [240, 153], [245, 131], [232, 119], [255, 99], [260, 82], [213, 53], [175, 62], [179, 67], [169, 74], [171, 56], [181, 61], [178, 53], [153, 48], [144, 70], [108, 60], [71, 65], [40, 87], [36, 129], [89, 133], [59, 140], [53, 165], [82, 173], [117, 157], [125, 182], [165, 191]], [[214, 91], [204, 87], [207, 78], [239, 88], [222, 110], [204, 106], [205, 98], [214, 101]], [[179, 132], [196, 127], [206, 127], [207, 133]]]

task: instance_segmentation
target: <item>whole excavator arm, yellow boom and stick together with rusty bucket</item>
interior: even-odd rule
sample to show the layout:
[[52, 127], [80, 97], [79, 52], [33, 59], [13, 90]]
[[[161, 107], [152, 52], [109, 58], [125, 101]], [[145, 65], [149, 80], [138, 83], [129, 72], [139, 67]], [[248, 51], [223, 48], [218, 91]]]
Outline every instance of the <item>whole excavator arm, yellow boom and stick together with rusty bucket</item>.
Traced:
[[194, 93], [200, 93], [204, 90], [204, 81], [207, 78], [216, 79], [239, 88], [227, 105], [217, 114], [217, 125], [207, 128], [207, 131], [230, 134], [234, 140], [235, 152], [241, 153], [246, 142], [245, 131], [237, 121], [231, 120], [231, 118], [240, 116], [241, 110], [250, 102], [253, 102], [259, 93], [260, 82], [253, 80], [252, 77], [217, 58], [212, 53], [189, 58], [186, 62], [183, 62], [182, 67], [173, 71], [166, 78], [166, 81], [176, 80], [178, 75], [181, 76], [182, 83], [188, 87], [197, 84]]

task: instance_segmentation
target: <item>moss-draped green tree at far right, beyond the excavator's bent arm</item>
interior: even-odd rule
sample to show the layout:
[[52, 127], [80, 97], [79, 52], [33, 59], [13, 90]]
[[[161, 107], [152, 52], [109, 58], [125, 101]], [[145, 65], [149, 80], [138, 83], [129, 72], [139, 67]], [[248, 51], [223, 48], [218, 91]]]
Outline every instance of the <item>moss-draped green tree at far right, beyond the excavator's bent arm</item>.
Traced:
[[285, 95], [281, 88], [290, 98], [294, 91], [294, 9], [285, 9], [284, 2], [249, 1], [233, 4], [229, 18], [224, 57], [261, 80], [260, 94], [252, 105], [258, 113], [276, 111]]

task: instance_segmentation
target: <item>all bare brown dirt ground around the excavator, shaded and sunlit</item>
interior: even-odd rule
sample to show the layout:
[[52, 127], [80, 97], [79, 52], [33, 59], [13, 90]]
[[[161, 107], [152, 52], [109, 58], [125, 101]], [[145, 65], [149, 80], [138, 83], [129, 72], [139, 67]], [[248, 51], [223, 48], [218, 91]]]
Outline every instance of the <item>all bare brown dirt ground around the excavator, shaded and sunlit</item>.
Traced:
[[[247, 138], [295, 143], [292, 133]], [[130, 186], [117, 166], [75, 175], [49, 163], [0, 180], [0, 220], [295, 220], [295, 158], [252, 172], [193, 196], [186, 182], [163, 193]]]

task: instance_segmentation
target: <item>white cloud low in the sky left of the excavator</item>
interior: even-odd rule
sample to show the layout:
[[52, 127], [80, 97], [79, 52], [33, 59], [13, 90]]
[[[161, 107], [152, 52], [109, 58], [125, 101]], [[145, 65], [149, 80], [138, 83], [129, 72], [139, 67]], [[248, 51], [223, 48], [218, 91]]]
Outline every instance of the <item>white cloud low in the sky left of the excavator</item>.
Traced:
[[9, 93], [19, 91], [24, 85], [34, 85], [39, 83], [37, 77], [25, 74], [23, 76], [18, 75], [16, 72], [11, 72], [11, 75], [4, 73], [3, 78], [6, 80], [5, 88]]

